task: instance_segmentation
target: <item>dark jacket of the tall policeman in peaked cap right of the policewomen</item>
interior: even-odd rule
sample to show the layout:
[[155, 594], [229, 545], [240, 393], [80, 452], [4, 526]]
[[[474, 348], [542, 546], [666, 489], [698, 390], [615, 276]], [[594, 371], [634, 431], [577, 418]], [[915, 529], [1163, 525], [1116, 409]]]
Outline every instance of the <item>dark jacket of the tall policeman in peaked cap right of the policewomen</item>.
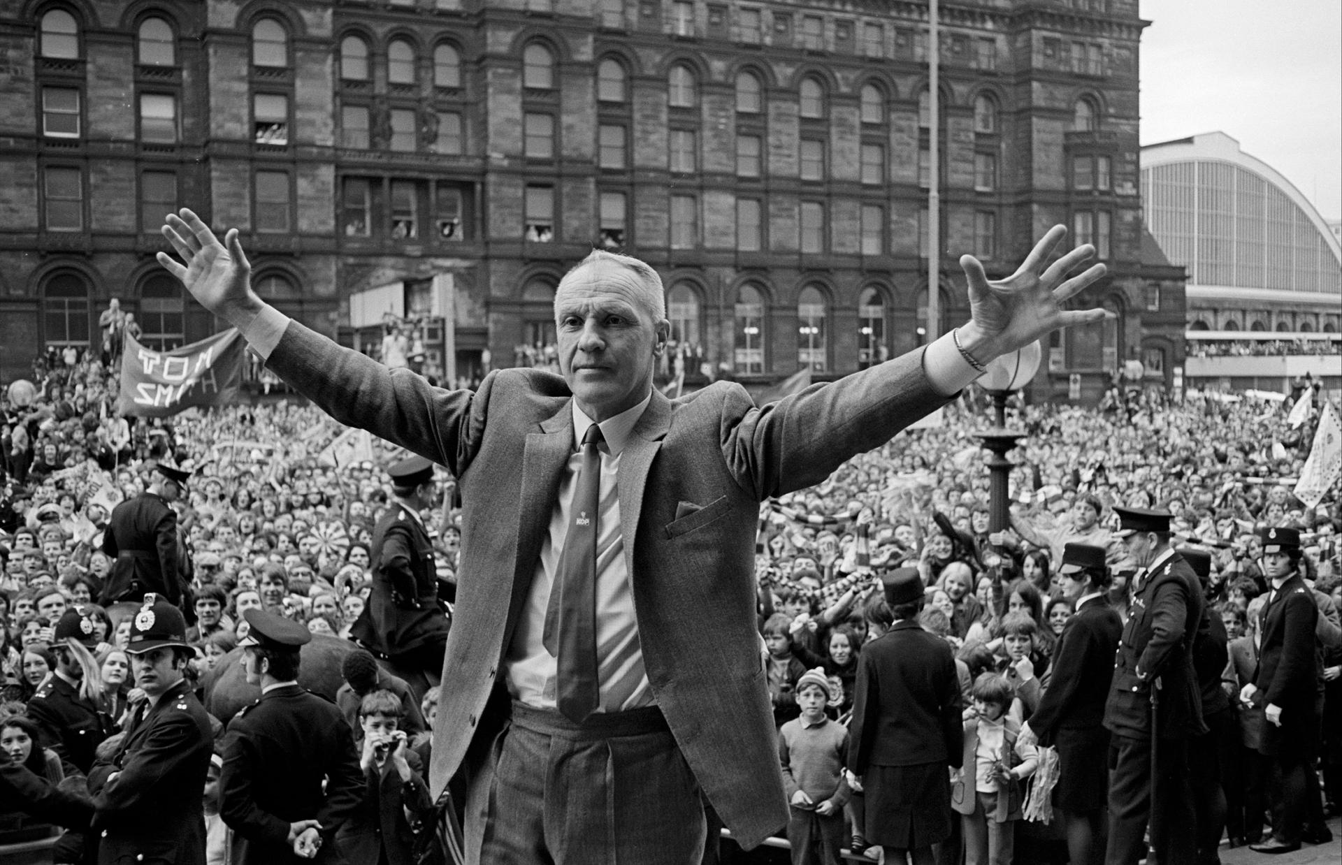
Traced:
[[1197, 574], [1177, 553], [1134, 586], [1118, 644], [1104, 727], [1134, 739], [1151, 735], [1151, 688], [1158, 684], [1157, 735], [1206, 732], [1192, 642], [1206, 609]]

